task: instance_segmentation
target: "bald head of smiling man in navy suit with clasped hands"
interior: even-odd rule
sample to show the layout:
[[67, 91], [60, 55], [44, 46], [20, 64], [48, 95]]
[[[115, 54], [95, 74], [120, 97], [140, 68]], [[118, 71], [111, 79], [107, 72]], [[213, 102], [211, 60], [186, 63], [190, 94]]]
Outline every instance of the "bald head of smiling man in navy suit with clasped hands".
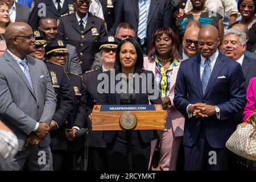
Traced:
[[220, 38], [218, 38], [218, 30], [212, 25], [206, 25], [199, 31], [199, 52], [204, 58], [210, 58], [218, 46], [220, 46]]

